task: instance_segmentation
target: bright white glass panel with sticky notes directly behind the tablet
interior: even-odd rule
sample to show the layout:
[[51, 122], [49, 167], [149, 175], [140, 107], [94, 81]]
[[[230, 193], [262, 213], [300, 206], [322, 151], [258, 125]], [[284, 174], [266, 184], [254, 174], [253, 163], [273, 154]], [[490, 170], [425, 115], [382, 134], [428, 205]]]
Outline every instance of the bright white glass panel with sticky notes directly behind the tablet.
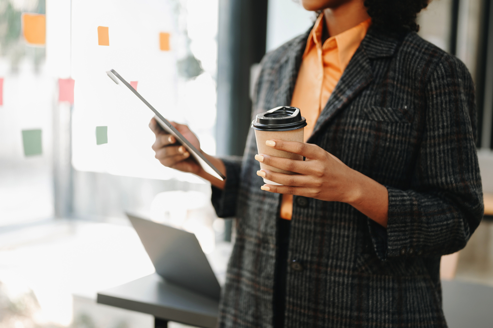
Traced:
[[203, 183], [154, 158], [152, 112], [105, 72], [113, 68], [134, 81], [149, 103], [188, 124], [204, 151], [215, 154], [217, 0], [73, 0], [71, 29], [74, 168]]

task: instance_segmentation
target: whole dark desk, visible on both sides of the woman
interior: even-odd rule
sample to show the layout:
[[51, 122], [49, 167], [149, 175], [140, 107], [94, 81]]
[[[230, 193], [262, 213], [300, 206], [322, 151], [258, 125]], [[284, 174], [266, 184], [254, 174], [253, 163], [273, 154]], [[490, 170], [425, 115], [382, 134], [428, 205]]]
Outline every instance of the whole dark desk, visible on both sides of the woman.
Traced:
[[[453, 280], [442, 281], [442, 289], [449, 328], [493, 327], [492, 287]], [[156, 273], [98, 293], [98, 303], [151, 314], [156, 328], [168, 321], [204, 328], [217, 324], [217, 301], [167, 283]]]

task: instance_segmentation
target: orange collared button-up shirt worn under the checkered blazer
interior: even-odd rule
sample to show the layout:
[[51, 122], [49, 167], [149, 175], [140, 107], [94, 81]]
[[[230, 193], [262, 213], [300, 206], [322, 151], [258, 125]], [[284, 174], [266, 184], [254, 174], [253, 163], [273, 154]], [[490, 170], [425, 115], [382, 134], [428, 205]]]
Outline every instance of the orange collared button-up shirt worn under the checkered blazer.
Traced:
[[[300, 108], [301, 115], [307, 120], [305, 142], [312, 134], [320, 112], [370, 24], [371, 19], [368, 19], [343, 33], [329, 37], [322, 44], [324, 19], [323, 14], [318, 16], [307, 41], [291, 99], [291, 106]], [[291, 220], [292, 212], [293, 196], [282, 195], [281, 217]]]

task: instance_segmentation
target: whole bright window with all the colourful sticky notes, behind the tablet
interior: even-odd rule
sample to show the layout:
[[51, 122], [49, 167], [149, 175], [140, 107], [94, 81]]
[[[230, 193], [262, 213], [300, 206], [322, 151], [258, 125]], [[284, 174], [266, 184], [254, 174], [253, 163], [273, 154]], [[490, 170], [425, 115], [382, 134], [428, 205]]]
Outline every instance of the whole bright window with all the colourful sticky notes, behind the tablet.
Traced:
[[[214, 154], [217, 0], [52, 0], [46, 13], [44, 3], [0, 0], [0, 226], [122, 217], [125, 209], [149, 211], [160, 192], [210, 193], [200, 178], [154, 159], [151, 112], [122, 98], [105, 72], [137, 82]], [[42, 42], [23, 33], [26, 14], [31, 23], [43, 15]], [[73, 100], [65, 101], [70, 79]], [[102, 199], [108, 193], [119, 201]]]

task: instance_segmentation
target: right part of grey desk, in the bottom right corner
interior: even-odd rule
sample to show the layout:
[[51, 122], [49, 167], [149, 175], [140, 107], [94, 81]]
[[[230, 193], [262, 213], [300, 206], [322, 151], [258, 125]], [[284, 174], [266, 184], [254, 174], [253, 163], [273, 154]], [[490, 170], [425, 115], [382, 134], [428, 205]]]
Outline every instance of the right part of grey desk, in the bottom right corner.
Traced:
[[442, 281], [443, 312], [449, 328], [492, 328], [493, 288], [486, 285]]

